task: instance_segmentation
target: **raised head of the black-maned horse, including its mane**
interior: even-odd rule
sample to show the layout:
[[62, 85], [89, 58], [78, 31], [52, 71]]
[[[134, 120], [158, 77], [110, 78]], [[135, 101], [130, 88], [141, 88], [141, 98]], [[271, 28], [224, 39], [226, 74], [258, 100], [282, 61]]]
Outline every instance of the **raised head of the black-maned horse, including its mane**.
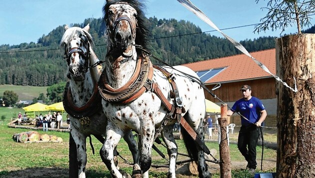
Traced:
[[[107, 26], [107, 41], [112, 49], [120, 51], [122, 56], [132, 55], [132, 45], [146, 47], [148, 28], [138, 0], [106, 0], [103, 7]], [[136, 37], [137, 36], [137, 37]]]

